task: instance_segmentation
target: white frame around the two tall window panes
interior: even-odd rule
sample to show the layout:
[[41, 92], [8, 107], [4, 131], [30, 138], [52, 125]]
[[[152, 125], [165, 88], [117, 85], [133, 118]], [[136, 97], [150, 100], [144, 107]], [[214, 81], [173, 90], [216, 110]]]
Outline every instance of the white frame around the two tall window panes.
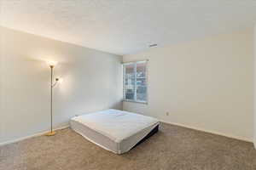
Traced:
[[[145, 85], [147, 88], [146, 91], [146, 101], [143, 100], [137, 100], [137, 63], [146, 63], [146, 68], [145, 68]], [[126, 92], [126, 86], [125, 86], [125, 65], [134, 65], [134, 74], [135, 74], [135, 81], [134, 81], [134, 99], [125, 99], [125, 92]], [[130, 61], [130, 62], [124, 62], [122, 63], [123, 67], [123, 101], [125, 102], [132, 102], [132, 103], [139, 103], [139, 104], [145, 104], [148, 105], [148, 59], [145, 60], [137, 60], [137, 61]]]

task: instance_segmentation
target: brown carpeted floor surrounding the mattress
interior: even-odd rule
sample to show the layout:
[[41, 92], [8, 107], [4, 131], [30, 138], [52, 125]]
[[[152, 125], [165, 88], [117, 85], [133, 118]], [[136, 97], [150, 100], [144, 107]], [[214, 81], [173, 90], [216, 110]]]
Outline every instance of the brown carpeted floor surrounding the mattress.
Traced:
[[73, 130], [0, 147], [1, 170], [252, 170], [252, 143], [161, 123], [160, 132], [124, 155], [92, 144]]

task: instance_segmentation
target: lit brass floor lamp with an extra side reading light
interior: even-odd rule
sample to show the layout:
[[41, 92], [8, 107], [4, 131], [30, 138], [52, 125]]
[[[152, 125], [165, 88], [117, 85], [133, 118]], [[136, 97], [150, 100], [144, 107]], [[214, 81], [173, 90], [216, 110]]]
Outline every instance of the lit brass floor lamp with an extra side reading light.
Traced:
[[53, 69], [55, 67], [55, 65], [57, 65], [56, 61], [48, 61], [47, 64], [49, 65], [50, 68], [50, 132], [46, 133], [46, 136], [54, 136], [55, 135], [55, 131], [53, 131], [52, 129], [52, 90], [55, 87], [55, 85], [58, 83], [59, 78], [55, 78], [55, 82], [53, 82]]

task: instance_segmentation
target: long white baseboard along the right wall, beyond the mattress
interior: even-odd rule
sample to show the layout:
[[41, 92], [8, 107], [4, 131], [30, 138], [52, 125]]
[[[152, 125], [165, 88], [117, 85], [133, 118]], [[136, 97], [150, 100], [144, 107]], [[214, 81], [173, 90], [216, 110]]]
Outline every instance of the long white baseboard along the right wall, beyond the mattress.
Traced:
[[176, 123], [176, 122], [166, 122], [166, 121], [163, 121], [163, 120], [160, 120], [160, 122], [165, 122], [167, 124], [172, 124], [172, 125], [176, 125], [176, 126], [179, 126], [179, 127], [191, 128], [191, 129], [202, 131], [202, 132], [206, 132], [206, 133], [217, 134], [217, 135], [228, 137], [228, 138], [231, 138], [231, 139], [239, 139], [239, 140], [243, 140], [243, 141], [246, 141], [246, 142], [253, 143], [253, 140], [244, 139], [244, 138], [241, 138], [241, 137], [238, 137], [238, 136], [234, 136], [234, 135], [230, 135], [230, 134], [218, 133], [218, 132], [214, 132], [214, 131], [210, 131], [210, 130], [206, 130], [206, 129], [198, 128], [198, 127], [189, 127], [187, 125], [183, 125], [183, 124]]

